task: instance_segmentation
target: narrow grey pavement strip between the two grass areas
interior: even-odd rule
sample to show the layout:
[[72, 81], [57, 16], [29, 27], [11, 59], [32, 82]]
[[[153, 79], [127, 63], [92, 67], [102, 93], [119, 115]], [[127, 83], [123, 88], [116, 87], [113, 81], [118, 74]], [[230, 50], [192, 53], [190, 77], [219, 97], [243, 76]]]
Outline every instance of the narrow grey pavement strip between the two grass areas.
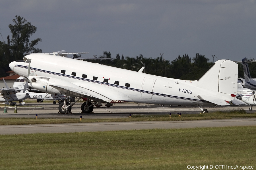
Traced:
[[113, 131], [131, 129], [172, 129], [196, 127], [255, 126], [256, 118], [196, 121], [152, 121], [152, 122], [100, 122], [44, 125], [0, 126], [0, 134], [64, 133], [85, 131]]

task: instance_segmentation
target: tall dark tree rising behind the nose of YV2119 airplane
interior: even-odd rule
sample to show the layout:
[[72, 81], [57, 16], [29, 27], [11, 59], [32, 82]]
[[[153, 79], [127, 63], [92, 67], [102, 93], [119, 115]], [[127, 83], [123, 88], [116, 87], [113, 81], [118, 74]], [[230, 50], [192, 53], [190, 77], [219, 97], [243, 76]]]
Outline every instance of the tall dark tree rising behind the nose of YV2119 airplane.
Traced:
[[27, 20], [25, 20], [23, 17], [17, 15], [15, 17], [16, 19], [13, 19], [15, 24], [9, 25], [12, 33], [10, 48], [13, 52], [13, 59], [11, 60], [15, 61], [22, 59], [25, 53], [42, 52], [41, 49], [34, 47], [39, 41], [42, 41], [40, 38], [37, 38], [31, 42], [29, 40], [30, 36], [36, 32], [36, 27], [31, 25], [30, 22], [27, 22]]

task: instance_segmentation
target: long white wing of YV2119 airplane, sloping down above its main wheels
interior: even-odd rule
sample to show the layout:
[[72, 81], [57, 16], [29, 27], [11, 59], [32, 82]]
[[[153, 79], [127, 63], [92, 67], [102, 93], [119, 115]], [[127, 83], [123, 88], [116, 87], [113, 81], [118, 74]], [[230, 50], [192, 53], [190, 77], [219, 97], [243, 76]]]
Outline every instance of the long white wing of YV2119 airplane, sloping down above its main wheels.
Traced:
[[92, 99], [101, 99], [104, 101], [112, 101], [112, 99], [101, 95], [97, 92], [94, 92], [92, 90], [86, 89], [86, 88], [74, 88], [74, 87], [68, 87], [68, 86], [55, 86], [55, 85], [49, 85], [61, 92], [62, 94], [66, 94], [68, 96], [73, 96], [73, 97], [86, 97], [86, 98], [92, 98]]

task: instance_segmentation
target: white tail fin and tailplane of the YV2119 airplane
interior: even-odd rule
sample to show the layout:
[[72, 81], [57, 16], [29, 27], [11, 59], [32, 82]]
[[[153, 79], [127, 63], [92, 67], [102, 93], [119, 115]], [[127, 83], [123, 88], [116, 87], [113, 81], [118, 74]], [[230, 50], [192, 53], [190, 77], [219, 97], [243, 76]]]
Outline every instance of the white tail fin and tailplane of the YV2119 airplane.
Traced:
[[217, 105], [229, 105], [236, 97], [238, 64], [230, 60], [218, 60], [212, 68], [198, 80], [198, 86], [209, 91], [208, 95], [197, 97]]

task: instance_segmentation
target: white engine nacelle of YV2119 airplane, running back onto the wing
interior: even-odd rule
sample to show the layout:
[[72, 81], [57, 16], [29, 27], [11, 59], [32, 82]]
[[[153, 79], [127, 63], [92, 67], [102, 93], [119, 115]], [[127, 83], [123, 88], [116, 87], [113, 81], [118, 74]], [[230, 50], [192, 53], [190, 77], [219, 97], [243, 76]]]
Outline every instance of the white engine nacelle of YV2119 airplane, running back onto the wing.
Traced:
[[61, 86], [69, 86], [77, 88], [77, 85], [61, 80], [58, 78], [49, 78], [49, 77], [43, 77], [43, 76], [29, 76], [28, 80], [30, 83], [28, 83], [28, 86], [39, 90], [41, 92], [50, 93], [50, 94], [62, 94], [59, 90], [49, 86], [49, 85], [61, 85]]

